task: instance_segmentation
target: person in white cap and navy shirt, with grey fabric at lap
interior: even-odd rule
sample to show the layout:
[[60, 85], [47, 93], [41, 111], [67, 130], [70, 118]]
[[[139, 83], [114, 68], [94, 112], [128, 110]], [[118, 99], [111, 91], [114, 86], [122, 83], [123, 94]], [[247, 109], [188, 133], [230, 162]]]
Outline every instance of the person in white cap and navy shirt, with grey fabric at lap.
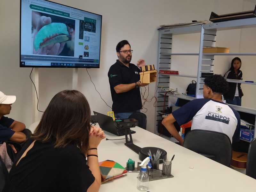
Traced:
[[8, 171], [10, 171], [14, 159], [11, 150], [14, 153], [17, 153], [17, 150], [12, 144], [6, 145], [5, 142], [14, 141], [21, 143], [26, 140], [26, 135], [22, 133], [26, 128], [25, 124], [5, 116], [10, 114], [11, 105], [15, 100], [16, 96], [5, 95], [0, 91], [0, 158]]

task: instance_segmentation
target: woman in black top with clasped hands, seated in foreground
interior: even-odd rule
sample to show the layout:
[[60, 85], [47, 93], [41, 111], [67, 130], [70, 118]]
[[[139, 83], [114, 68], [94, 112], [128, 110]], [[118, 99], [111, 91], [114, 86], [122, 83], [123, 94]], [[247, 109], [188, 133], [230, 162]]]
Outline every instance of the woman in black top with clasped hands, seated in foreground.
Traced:
[[105, 134], [90, 116], [81, 92], [57, 93], [12, 166], [10, 191], [99, 191], [97, 147]]

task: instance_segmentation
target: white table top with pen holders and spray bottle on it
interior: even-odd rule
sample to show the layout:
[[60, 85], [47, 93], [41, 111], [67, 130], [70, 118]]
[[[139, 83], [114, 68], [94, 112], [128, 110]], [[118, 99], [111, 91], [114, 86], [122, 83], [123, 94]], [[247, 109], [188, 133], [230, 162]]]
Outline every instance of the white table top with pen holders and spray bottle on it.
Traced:
[[[167, 160], [172, 161], [173, 178], [149, 181], [148, 191], [189, 191], [189, 192], [241, 192], [256, 191], [256, 180], [183, 148], [139, 127], [132, 128], [133, 143], [141, 148], [159, 147], [167, 151]], [[108, 139], [120, 139], [105, 132]], [[102, 140], [98, 147], [99, 161], [114, 160], [126, 167], [129, 158], [139, 160], [139, 155], [124, 145], [125, 140]], [[189, 167], [194, 167], [190, 169]], [[162, 164], [160, 164], [160, 169]], [[100, 191], [139, 191], [136, 188], [138, 173], [128, 172], [125, 176], [102, 184]]]

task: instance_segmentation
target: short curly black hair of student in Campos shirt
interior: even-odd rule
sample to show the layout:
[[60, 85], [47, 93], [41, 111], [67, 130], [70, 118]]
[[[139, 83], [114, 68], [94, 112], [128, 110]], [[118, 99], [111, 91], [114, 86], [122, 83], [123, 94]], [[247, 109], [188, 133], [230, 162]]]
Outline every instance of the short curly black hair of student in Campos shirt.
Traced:
[[228, 82], [221, 75], [212, 75], [204, 79], [204, 84], [212, 89], [212, 92], [225, 94], [228, 91]]

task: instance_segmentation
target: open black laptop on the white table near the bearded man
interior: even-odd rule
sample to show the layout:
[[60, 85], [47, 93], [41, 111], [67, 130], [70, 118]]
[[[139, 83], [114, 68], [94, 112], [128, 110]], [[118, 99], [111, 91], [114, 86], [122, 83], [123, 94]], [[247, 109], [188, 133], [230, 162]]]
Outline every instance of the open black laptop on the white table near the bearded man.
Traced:
[[[117, 136], [125, 135], [124, 129], [116, 128], [112, 117], [98, 113], [96, 111], [93, 111], [93, 113], [96, 116], [96, 119], [101, 129], [103, 129], [104, 131], [113, 133]], [[131, 130], [131, 133], [136, 133], [136, 132]]]

